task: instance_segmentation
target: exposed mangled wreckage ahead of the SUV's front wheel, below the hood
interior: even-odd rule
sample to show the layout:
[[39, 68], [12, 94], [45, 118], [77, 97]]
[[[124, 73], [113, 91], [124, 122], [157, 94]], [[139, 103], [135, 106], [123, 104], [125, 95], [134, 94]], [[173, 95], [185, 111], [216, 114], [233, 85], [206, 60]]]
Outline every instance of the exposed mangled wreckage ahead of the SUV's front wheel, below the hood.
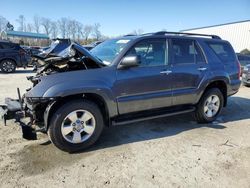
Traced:
[[[37, 132], [47, 132], [48, 110], [56, 98], [28, 98], [25, 95], [19, 99], [5, 98], [5, 104], [0, 105], [0, 119], [7, 125], [8, 120], [14, 120], [22, 128], [22, 136], [27, 140], [36, 140]], [[47, 111], [46, 111], [47, 110]]]

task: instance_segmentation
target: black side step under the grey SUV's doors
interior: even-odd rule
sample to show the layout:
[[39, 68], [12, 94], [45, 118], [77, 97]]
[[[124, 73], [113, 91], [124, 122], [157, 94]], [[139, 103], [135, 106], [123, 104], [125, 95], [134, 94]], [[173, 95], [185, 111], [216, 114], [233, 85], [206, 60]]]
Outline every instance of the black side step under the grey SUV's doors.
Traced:
[[135, 123], [139, 121], [145, 121], [145, 120], [150, 120], [150, 119], [157, 119], [157, 118], [162, 118], [162, 117], [167, 117], [167, 116], [174, 116], [174, 115], [179, 115], [179, 114], [185, 114], [189, 112], [195, 111], [195, 107], [187, 107], [185, 109], [168, 109], [164, 111], [156, 111], [156, 112], [151, 112], [151, 113], [145, 113], [146, 115], [128, 115], [121, 118], [117, 118], [114, 121], [112, 121], [112, 125], [125, 125], [129, 123]]

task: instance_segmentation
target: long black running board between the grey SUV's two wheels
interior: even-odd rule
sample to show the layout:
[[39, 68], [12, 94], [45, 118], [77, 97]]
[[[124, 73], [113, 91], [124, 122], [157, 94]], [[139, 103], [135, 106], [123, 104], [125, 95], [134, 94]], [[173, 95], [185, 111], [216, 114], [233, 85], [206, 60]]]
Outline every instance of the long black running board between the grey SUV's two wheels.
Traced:
[[148, 115], [148, 116], [139, 116], [139, 117], [135, 117], [134, 119], [131, 117], [127, 117], [127, 118], [120, 118], [117, 120], [112, 121], [112, 125], [116, 126], [116, 125], [125, 125], [125, 124], [130, 124], [130, 123], [135, 123], [135, 122], [139, 122], [139, 121], [145, 121], [145, 120], [150, 120], [150, 119], [157, 119], [157, 118], [162, 118], [162, 117], [168, 117], [168, 116], [174, 116], [174, 115], [179, 115], [179, 114], [185, 114], [185, 113], [189, 113], [189, 112], [193, 112], [195, 111], [195, 107], [189, 107], [186, 108], [185, 110], [172, 110], [172, 111], [165, 111], [162, 113], [153, 113], [152, 115]]

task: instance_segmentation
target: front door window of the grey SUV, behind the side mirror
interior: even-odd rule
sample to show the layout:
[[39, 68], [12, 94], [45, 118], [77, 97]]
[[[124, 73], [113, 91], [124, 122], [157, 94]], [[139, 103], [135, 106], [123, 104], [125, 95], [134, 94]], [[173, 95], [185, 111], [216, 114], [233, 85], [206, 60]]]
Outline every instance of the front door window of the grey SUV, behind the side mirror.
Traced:
[[126, 56], [139, 56], [140, 66], [159, 66], [167, 64], [166, 53], [166, 39], [150, 39], [135, 44]]

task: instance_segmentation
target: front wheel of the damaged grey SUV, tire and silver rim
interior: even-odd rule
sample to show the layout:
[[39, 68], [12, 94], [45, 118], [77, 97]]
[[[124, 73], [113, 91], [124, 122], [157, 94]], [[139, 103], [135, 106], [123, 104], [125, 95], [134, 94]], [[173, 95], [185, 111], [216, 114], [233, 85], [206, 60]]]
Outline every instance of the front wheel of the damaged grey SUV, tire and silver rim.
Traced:
[[57, 148], [66, 152], [77, 152], [94, 144], [103, 127], [103, 116], [95, 103], [75, 100], [56, 110], [49, 123], [48, 133]]

